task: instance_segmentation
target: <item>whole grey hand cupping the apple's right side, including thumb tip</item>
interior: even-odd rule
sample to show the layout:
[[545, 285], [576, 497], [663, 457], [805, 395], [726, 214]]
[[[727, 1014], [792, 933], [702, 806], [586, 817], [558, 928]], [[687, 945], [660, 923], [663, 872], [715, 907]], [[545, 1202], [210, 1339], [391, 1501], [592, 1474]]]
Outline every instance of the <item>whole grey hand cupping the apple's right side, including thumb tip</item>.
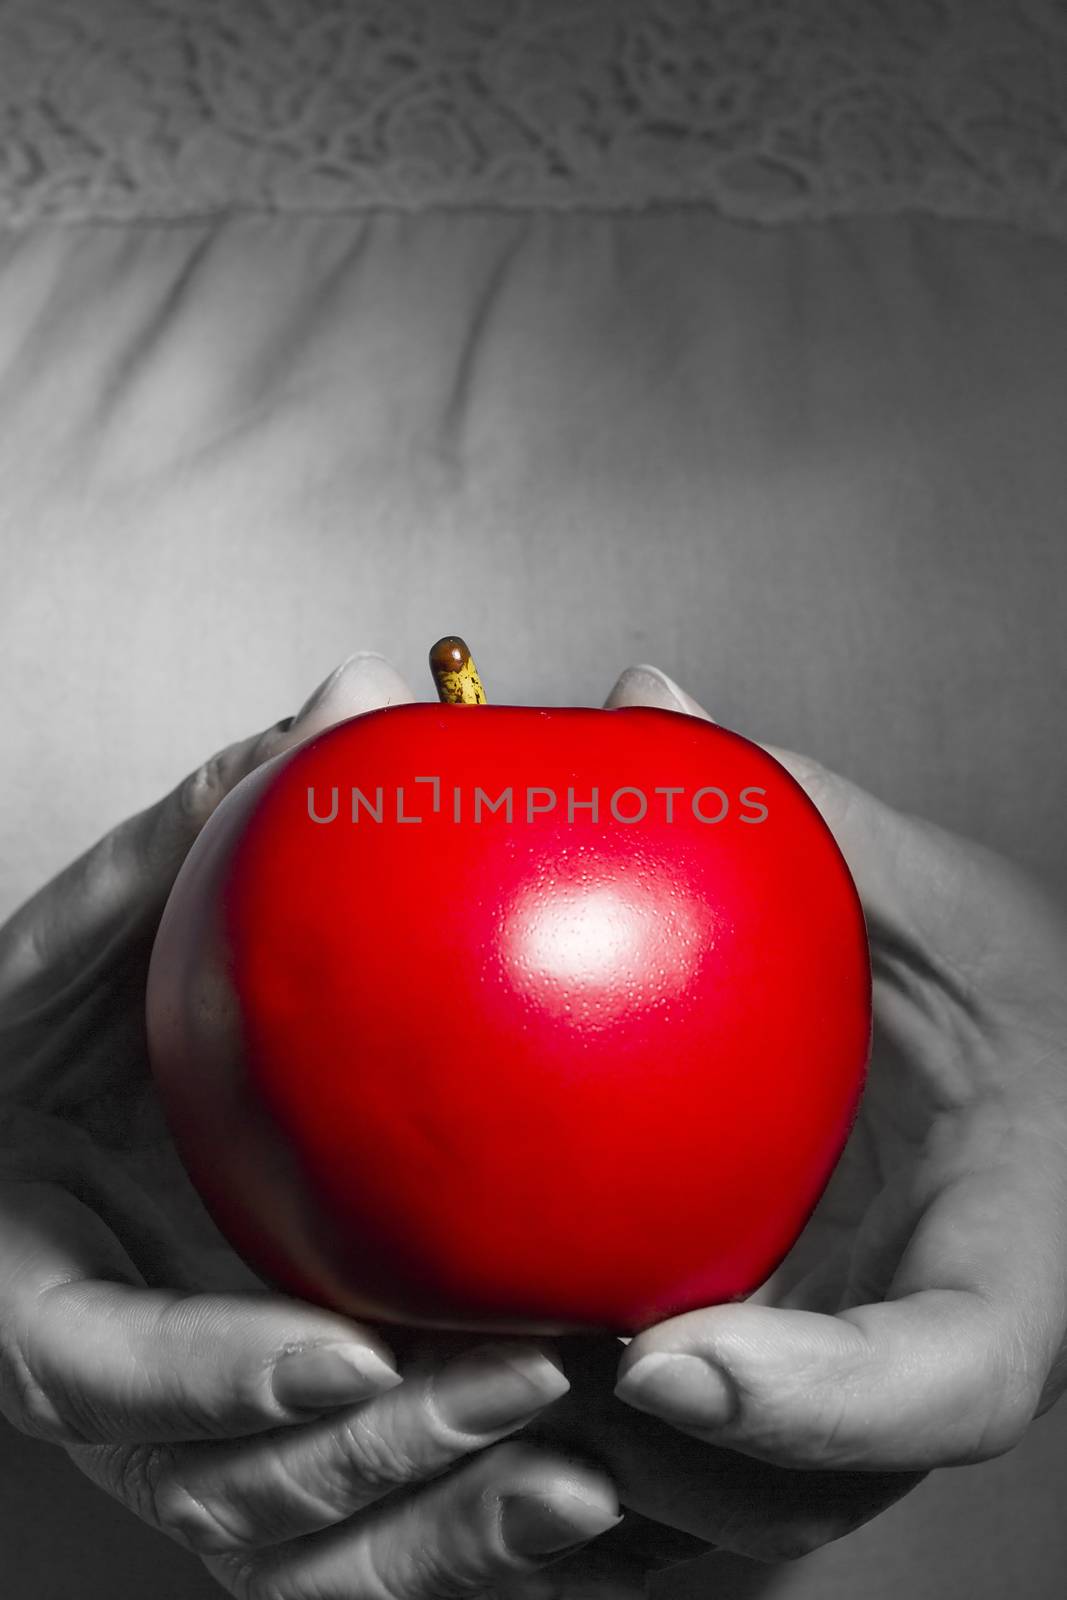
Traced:
[[[608, 704], [707, 717], [646, 667]], [[840, 1536], [931, 1467], [1008, 1451], [1067, 1386], [1067, 918], [992, 851], [771, 754], [864, 902], [859, 1118], [757, 1294], [627, 1344], [616, 1397], [643, 1430], [582, 1395], [569, 1357], [571, 1395], [530, 1430], [600, 1440], [625, 1506], [763, 1557]]]

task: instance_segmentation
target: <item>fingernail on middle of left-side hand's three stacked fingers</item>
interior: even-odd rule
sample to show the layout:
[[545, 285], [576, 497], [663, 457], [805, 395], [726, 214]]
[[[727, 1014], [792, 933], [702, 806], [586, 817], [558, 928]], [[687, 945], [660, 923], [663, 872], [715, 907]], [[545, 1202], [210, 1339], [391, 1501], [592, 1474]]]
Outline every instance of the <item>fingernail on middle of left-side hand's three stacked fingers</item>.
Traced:
[[488, 1434], [533, 1416], [569, 1389], [563, 1371], [536, 1346], [480, 1344], [434, 1376], [434, 1398], [450, 1427]]

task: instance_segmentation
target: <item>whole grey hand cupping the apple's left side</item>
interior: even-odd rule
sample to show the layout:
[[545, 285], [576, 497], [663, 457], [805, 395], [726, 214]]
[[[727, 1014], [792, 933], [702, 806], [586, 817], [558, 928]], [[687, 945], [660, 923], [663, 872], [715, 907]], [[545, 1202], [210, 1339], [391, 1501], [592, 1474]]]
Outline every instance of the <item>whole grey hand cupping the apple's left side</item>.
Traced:
[[0, 1410], [245, 1600], [477, 1594], [619, 1520], [603, 1470], [506, 1440], [568, 1389], [549, 1344], [427, 1334], [402, 1381], [376, 1331], [238, 1261], [154, 1093], [147, 960], [198, 829], [261, 762], [411, 698], [354, 656], [0, 928]]

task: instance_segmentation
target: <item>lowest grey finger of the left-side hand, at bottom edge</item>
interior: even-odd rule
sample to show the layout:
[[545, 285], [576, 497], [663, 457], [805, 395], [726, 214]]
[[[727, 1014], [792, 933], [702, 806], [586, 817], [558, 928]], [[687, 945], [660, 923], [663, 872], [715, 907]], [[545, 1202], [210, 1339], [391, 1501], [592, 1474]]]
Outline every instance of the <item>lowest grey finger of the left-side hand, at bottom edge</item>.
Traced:
[[206, 1566], [242, 1600], [440, 1600], [536, 1571], [619, 1515], [605, 1474], [506, 1440], [326, 1533]]

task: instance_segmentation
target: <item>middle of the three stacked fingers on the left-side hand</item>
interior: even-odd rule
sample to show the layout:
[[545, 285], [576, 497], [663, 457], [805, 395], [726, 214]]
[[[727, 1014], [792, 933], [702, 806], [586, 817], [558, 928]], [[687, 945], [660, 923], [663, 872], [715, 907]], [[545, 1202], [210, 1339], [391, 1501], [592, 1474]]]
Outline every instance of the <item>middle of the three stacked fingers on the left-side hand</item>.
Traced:
[[[499, 1341], [405, 1371], [398, 1389], [315, 1424], [232, 1445], [176, 1446], [133, 1509], [198, 1550], [254, 1550], [330, 1528], [438, 1477], [558, 1400], [568, 1381], [536, 1342]], [[114, 1493], [130, 1472], [109, 1462]]]

